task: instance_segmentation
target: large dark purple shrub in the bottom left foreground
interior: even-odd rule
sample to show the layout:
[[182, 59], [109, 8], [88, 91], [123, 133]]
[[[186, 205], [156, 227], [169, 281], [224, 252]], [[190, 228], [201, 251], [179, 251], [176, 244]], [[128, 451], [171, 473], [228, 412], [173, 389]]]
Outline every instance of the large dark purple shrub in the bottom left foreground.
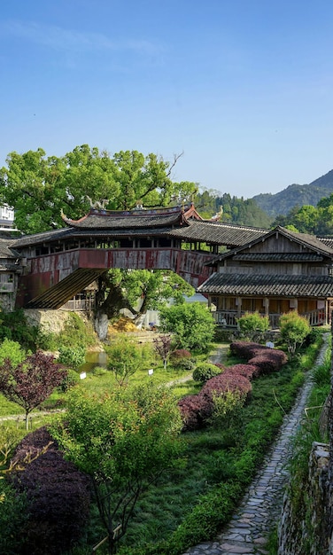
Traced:
[[[37, 457], [27, 464], [27, 456], [30, 460]], [[28, 503], [22, 555], [58, 555], [69, 550], [89, 516], [89, 477], [64, 459], [45, 427], [27, 434], [13, 461], [24, 467], [13, 472], [11, 479], [16, 489], [26, 492]]]

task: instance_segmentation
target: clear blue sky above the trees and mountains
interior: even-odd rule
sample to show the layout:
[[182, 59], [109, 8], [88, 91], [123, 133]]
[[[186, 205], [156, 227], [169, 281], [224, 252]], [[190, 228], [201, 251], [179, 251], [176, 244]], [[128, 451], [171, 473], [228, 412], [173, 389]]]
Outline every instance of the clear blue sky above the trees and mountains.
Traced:
[[9, 152], [183, 152], [175, 181], [252, 198], [333, 168], [331, 0], [2, 0]]

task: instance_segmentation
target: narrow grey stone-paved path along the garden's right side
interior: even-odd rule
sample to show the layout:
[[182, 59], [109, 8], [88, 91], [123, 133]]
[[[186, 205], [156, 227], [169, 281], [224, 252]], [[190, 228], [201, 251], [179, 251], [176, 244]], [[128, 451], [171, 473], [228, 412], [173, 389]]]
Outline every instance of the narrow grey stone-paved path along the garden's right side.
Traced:
[[[329, 334], [317, 358], [321, 364], [327, 349]], [[273, 448], [267, 454], [251, 487], [246, 492], [236, 514], [212, 542], [201, 543], [183, 555], [252, 555], [265, 554], [267, 535], [281, 513], [283, 493], [288, 480], [286, 463], [292, 452], [292, 439], [304, 415], [306, 401], [312, 388], [309, 372], [304, 387], [283, 426]]]

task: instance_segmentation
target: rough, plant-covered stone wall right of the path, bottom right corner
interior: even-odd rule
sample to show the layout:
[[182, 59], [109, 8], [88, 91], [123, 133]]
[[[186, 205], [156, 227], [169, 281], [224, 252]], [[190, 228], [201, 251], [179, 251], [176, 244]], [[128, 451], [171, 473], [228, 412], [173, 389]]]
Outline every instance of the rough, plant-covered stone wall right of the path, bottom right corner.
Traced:
[[299, 486], [302, 504], [284, 496], [279, 525], [278, 555], [328, 555], [329, 549], [329, 445], [314, 442], [309, 473]]

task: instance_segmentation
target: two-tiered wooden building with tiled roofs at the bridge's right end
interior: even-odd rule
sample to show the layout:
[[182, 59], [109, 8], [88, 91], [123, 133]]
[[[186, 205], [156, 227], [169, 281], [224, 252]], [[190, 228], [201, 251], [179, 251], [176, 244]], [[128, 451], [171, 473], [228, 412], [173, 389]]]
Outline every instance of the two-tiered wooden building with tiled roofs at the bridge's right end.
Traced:
[[297, 310], [311, 325], [329, 324], [333, 307], [331, 239], [283, 227], [219, 254], [216, 271], [197, 288], [216, 307], [216, 320], [236, 326], [245, 312], [258, 311], [278, 327], [282, 314]]

